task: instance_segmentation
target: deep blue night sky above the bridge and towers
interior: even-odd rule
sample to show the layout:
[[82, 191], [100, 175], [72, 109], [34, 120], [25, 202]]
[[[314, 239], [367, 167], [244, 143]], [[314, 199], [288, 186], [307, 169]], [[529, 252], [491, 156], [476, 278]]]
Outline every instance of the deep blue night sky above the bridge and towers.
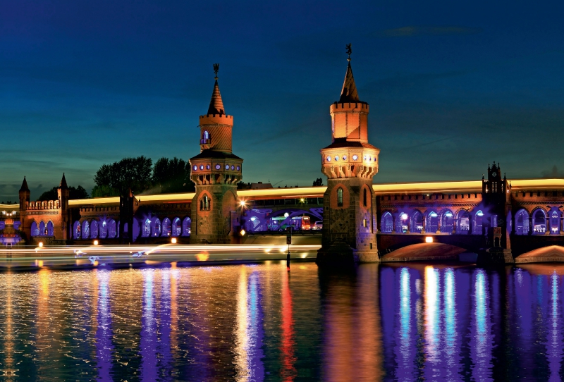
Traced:
[[[551, 4], [548, 4], [551, 3]], [[312, 185], [353, 73], [375, 183], [563, 176], [564, 4], [0, 0], [0, 201], [199, 153], [220, 63], [245, 182]], [[324, 178], [326, 184], [326, 179]]]

